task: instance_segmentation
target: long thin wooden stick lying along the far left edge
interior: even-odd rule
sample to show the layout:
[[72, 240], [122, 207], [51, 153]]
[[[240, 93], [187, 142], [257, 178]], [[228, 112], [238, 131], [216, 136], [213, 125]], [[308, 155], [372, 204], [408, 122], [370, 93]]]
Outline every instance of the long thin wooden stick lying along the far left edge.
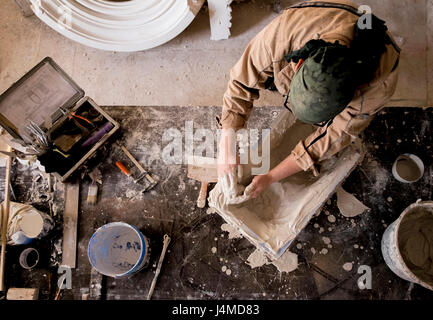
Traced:
[[[8, 147], [8, 152], [12, 151], [11, 147]], [[12, 158], [7, 157], [6, 160], [6, 177], [5, 177], [5, 199], [2, 206], [2, 228], [1, 228], [1, 256], [0, 256], [0, 291], [5, 291], [5, 260], [6, 260], [6, 244], [7, 244], [7, 233], [9, 223], [9, 194], [10, 194], [10, 181], [11, 181], [11, 164]]]

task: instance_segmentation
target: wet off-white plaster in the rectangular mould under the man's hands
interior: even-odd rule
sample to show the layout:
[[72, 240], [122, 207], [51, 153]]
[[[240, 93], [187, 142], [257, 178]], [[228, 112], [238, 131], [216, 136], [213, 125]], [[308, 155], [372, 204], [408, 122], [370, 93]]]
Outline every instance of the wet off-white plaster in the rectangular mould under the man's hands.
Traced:
[[[289, 112], [283, 112], [272, 125], [271, 133], [263, 139], [263, 143], [270, 144], [270, 167], [285, 159], [299, 140], [314, 131], [311, 125], [295, 122]], [[258, 149], [261, 152], [261, 148]], [[228, 224], [240, 229], [256, 247], [277, 259], [355, 168], [362, 154], [359, 145], [351, 145], [323, 161], [319, 176], [300, 172], [270, 185], [256, 199], [241, 204], [231, 204], [218, 183], [210, 192], [209, 206]], [[252, 166], [243, 165], [241, 183], [244, 186], [251, 181], [251, 172]], [[328, 220], [332, 218], [335, 219], [328, 216]]]

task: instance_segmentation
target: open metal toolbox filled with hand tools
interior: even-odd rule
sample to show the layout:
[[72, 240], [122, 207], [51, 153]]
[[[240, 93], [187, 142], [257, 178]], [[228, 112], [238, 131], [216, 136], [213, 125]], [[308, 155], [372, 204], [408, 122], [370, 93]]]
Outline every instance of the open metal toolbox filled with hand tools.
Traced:
[[[83, 115], [96, 118], [91, 121], [90, 116]], [[36, 157], [46, 172], [52, 172], [62, 182], [120, 128], [50, 57], [0, 95], [0, 126], [9, 133], [9, 141], [26, 148], [27, 152], [36, 150], [34, 146], [40, 141], [29, 126], [40, 130], [37, 132], [49, 143], [43, 151], [35, 152]], [[72, 157], [58, 147], [61, 143], [64, 148], [71, 146], [73, 138], [68, 134], [75, 139], [69, 149]], [[92, 137], [98, 139], [87, 143]]]

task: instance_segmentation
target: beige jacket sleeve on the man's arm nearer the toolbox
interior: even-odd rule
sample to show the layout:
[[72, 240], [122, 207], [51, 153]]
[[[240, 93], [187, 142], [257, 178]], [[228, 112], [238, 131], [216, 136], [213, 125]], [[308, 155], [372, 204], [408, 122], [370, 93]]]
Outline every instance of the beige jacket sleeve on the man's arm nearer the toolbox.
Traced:
[[[272, 24], [271, 24], [272, 26]], [[266, 46], [270, 27], [258, 33], [248, 44], [242, 57], [232, 68], [228, 88], [223, 98], [221, 125], [224, 129], [243, 128], [248, 120], [259, 90], [272, 76], [272, 58]]]

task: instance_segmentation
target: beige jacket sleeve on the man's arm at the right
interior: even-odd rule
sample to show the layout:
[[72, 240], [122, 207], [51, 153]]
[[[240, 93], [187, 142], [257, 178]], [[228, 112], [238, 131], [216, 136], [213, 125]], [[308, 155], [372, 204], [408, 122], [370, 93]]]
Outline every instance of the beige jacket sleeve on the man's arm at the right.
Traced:
[[379, 77], [369, 85], [358, 89], [348, 107], [337, 115], [329, 126], [327, 134], [312, 144], [309, 144], [325, 128], [300, 141], [292, 150], [295, 161], [304, 171], [312, 169], [314, 164], [336, 154], [358, 138], [358, 135], [369, 125], [374, 115], [383, 108], [394, 94], [397, 85], [398, 54], [388, 62], [392, 68], [386, 77]]

